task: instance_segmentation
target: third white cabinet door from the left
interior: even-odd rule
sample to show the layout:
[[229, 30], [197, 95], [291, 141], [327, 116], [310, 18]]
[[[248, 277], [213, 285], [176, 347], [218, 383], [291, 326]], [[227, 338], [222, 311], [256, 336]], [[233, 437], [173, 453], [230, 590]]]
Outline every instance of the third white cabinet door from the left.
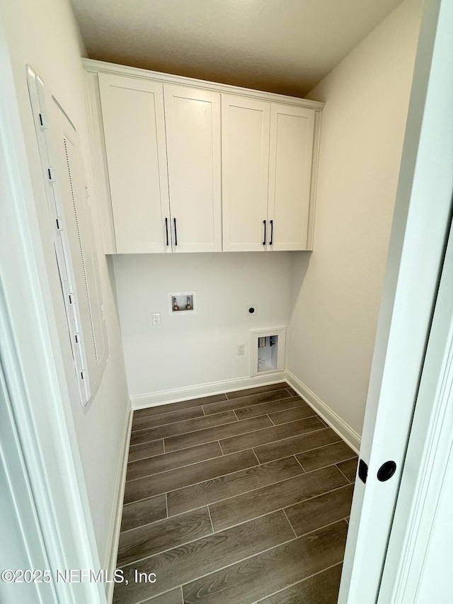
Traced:
[[266, 249], [269, 127], [270, 103], [222, 95], [224, 251]]

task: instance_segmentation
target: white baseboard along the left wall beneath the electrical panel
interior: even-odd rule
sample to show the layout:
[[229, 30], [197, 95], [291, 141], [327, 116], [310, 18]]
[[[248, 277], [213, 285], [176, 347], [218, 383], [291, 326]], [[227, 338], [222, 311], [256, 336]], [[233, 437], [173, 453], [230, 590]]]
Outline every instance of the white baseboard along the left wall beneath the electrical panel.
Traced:
[[[115, 498], [112, 516], [110, 520], [110, 530], [108, 532], [107, 550], [103, 569], [107, 570], [108, 577], [112, 577], [116, 568], [116, 559], [118, 553], [118, 542], [120, 541], [120, 527], [122, 518], [122, 500], [125, 495], [127, 457], [129, 457], [129, 442], [132, 431], [132, 408], [127, 412], [125, 428], [122, 435], [122, 456], [118, 464], [118, 472], [115, 486]], [[113, 588], [115, 583], [107, 583], [105, 587], [105, 597], [107, 603], [111, 604], [113, 600]]]

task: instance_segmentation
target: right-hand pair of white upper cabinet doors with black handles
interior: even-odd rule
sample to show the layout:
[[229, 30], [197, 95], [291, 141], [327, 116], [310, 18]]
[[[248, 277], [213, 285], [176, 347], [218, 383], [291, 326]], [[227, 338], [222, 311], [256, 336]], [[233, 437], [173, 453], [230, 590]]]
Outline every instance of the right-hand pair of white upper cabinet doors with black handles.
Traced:
[[309, 249], [313, 109], [222, 95], [224, 251]]

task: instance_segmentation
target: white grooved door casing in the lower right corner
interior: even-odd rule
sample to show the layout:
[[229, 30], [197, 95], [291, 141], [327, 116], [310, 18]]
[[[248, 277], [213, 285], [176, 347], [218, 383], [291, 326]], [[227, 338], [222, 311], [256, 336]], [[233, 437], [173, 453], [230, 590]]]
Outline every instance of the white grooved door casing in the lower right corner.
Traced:
[[452, 392], [453, 228], [415, 404], [379, 604], [452, 602]]

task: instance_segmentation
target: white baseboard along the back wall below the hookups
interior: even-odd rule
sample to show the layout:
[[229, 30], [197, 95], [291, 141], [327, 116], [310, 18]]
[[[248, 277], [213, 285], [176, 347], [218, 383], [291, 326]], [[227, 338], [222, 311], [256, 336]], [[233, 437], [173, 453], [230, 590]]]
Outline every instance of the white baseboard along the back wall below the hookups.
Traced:
[[236, 380], [222, 380], [221, 382], [198, 384], [197, 386], [188, 388], [161, 390], [160, 392], [151, 392], [150, 394], [142, 394], [142, 396], [139, 397], [132, 397], [132, 409], [146, 409], [147, 407], [166, 403], [176, 403], [177, 401], [187, 401], [189, 399], [197, 399], [198, 397], [208, 397], [211, 394], [221, 394], [222, 392], [232, 392], [233, 390], [242, 390], [255, 386], [285, 382], [285, 380], [285, 371], [278, 371], [275, 373], [266, 373], [265, 375], [256, 375], [254, 377], [240, 377]]

